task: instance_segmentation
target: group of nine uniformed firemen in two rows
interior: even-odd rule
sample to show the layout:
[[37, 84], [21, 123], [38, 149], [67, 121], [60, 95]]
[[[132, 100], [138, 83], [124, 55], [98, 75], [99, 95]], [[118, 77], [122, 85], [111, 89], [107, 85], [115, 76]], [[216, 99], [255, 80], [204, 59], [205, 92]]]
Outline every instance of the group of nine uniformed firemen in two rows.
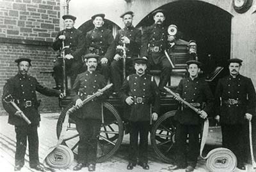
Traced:
[[[120, 17], [124, 21], [124, 29], [120, 29], [115, 39], [109, 29], [103, 27], [104, 14], [93, 15], [95, 25], [92, 31], [84, 35], [74, 28], [76, 17], [64, 15], [65, 29], [58, 32], [53, 43], [54, 50], [65, 50], [67, 75], [73, 86], [70, 95], [77, 108], [74, 120], [79, 133], [78, 158], [74, 171], [84, 167], [95, 171], [97, 159], [97, 134], [102, 120], [102, 102], [109, 92], [101, 92], [108, 80], [113, 82], [113, 92], [124, 103], [124, 118], [129, 121], [130, 147], [127, 169], [131, 170], [137, 164], [143, 169], [148, 166], [148, 133], [150, 121], [157, 120], [160, 108], [160, 95], [166, 94], [164, 87], [170, 80], [172, 65], [164, 55], [168, 41], [167, 29], [163, 26], [164, 11], [152, 13], [154, 24], [141, 31], [132, 25], [134, 13], [127, 11]], [[116, 48], [121, 46], [122, 48]], [[123, 79], [124, 48], [128, 76]], [[140, 57], [138, 57], [140, 56]], [[3, 90], [3, 105], [9, 113], [8, 122], [15, 125], [16, 152], [15, 171], [24, 166], [27, 138], [29, 143], [29, 166], [38, 171], [44, 171], [38, 159], [37, 127], [40, 116], [36, 91], [46, 96], [60, 96], [62, 84], [63, 59], [58, 58], [54, 65], [56, 87], [47, 89], [40, 85], [33, 76], [28, 75], [31, 59], [17, 59], [18, 74], [10, 78]], [[198, 76], [202, 68], [199, 61], [188, 61], [189, 76], [180, 80], [177, 87], [177, 101], [184, 99], [199, 111], [196, 113], [185, 104], [180, 103], [175, 114], [177, 129], [175, 144], [177, 154], [175, 164], [169, 169], [185, 169], [193, 171], [199, 155], [199, 133], [201, 124], [209, 114], [216, 111], [216, 120], [220, 121], [223, 134], [223, 147], [234, 152], [237, 157], [237, 168], [245, 169], [246, 124], [255, 114], [255, 89], [252, 80], [239, 74], [241, 59], [230, 59], [229, 75], [221, 78], [216, 87], [215, 96], [208, 83]], [[154, 76], [148, 75], [147, 69], [161, 69], [159, 86]], [[81, 69], [83, 72], [81, 72]], [[83, 100], [96, 94], [96, 97], [84, 105]], [[12, 95], [17, 110], [12, 104], [4, 101]], [[26, 115], [31, 124], [26, 124], [21, 118]], [[138, 144], [140, 136], [140, 144]], [[187, 138], [189, 136], [189, 138]], [[189, 146], [187, 147], [187, 139]]]

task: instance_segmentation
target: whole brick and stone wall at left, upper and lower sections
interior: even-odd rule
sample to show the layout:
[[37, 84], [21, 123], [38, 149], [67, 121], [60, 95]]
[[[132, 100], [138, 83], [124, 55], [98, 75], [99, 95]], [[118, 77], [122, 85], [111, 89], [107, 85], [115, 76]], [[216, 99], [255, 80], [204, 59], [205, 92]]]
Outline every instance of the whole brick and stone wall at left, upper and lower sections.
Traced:
[[[47, 87], [54, 86], [51, 71], [56, 52], [51, 48], [60, 31], [60, 0], [0, 0], [0, 94], [6, 80], [17, 74], [14, 60], [32, 60], [29, 74]], [[40, 111], [60, 111], [58, 98], [38, 94]], [[0, 115], [5, 115], [0, 103]]]

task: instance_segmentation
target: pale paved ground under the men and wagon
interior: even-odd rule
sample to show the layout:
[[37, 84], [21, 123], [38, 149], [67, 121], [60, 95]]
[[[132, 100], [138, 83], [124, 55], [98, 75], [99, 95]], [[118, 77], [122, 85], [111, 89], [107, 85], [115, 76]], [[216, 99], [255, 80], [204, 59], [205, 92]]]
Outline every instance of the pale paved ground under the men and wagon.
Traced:
[[[39, 133], [39, 145], [40, 145], [40, 162], [42, 162], [42, 158], [45, 157], [46, 151], [49, 147], [54, 145], [57, 141], [56, 138], [56, 123], [58, 118], [58, 113], [45, 113], [42, 114], [42, 122], [40, 123], [40, 127], [38, 129]], [[8, 117], [0, 116], [0, 171], [13, 171], [14, 166], [14, 155], [15, 155], [15, 131], [12, 125], [7, 124]], [[128, 171], [126, 169], [127, 166], [127, 149], [129, 143], [129, 135], [124, 136], [123, 143], [121, 147], [118, 149], [113, 157], [108, 159], [108, 161], [97, 164], [96, 172], [122, 172]], [[150, 147], [149, 150], [149, 165], [150, 169], [148, 172], [168, 172], [168, 166], [170, 164], [166, 164], [164, 162], [159, 161], [157, 159], [157, 155], [154, 153], [154, 150]], [[26, 164], [24, 168], [22, 168], [22, 172], [26, 171], [34, 171], [29, 169], [28, 164], [28, 151], [26, 152]], [[73, 162], [72, 166], [68, 169], [56, 169], [56, 172], [59, 171], [72, 171], [72, 168], [76, 165], [76, 161]], [[81, 171], [88, 171], [87, 168], [81, 169]], [[133, 172], [144, 171], [139, 166], [136, 166]], [[183, 170], [177, 170], [177, 172], [181, 172]], [[195, 169], [195, 172], [205, 172], [208, 171], [205, 168], [205, 161], [200, 159], [198, 162], [198, 166]], [[236, 172], [239, 171], [236, 169]], [[251, 166], [247, 166], [247, 171], [252, 171]], [[131, 171], [130, 171], [131, 172]]]

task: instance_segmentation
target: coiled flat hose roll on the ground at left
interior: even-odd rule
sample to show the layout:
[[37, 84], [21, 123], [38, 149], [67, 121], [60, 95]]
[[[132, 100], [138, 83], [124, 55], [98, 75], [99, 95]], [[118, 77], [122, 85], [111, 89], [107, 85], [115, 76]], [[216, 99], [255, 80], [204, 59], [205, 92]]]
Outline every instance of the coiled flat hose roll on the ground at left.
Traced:
[[74, 154], [70, 148], [59, 145], [45, 158], [46, 164], [51, 168], [66, 169], [74, 161]]

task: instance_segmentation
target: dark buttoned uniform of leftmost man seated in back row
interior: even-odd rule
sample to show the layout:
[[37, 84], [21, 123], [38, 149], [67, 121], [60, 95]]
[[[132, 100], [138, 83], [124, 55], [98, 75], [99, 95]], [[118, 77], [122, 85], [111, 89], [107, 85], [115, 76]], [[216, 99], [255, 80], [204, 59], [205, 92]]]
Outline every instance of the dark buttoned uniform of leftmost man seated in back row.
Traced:
[[[69, 46], [67, 50], [65, 50], [65, 55], [71, 54], [74, 59], [66, 59], [66, 70], [67, 75], [72, 76], [72, 81], [76, 79], [76, 75], [79, 73], [81, 67], [83, 66], [82, 55], [84, 54], [84, 40], [83, 34], [78, 29], [72, 27], [72, 29], [64, 29], [58, 32], [56, 36], [56, 40], [52, 44], [52, 48], [54, 50], [61, 50], [62, 48], [62, 39], [59, 39], [60, 35], [65, 35], [64, 45]], [[60, 57], [60, 54], [58, 55]], [[58, 58], [54, 64], [54, 79], [58, 85], [61, 85], [62, 82], [62, 63], [63, 59]]]

